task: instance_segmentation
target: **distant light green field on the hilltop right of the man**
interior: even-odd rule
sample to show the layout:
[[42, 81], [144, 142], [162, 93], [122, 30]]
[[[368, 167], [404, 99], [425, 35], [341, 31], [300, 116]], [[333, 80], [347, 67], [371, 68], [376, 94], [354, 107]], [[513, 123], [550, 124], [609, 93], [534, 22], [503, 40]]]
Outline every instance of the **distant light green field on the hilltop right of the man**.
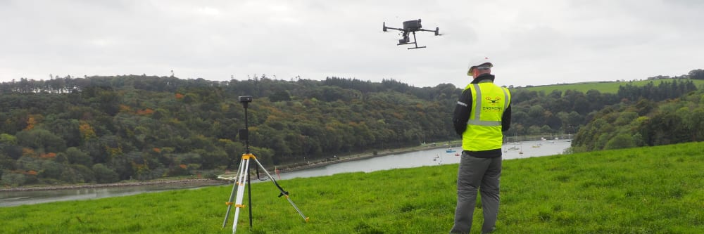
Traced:
[[[679, 79], [678, 82], [680, 81], [689, 81], [689, 79]], [[704, 80], [702, 79], [692, 79], [691, 81], [694, 82], [694, 84], [698, 88], [702, 88], [704, 86]], [[517, 89], [527, 89], [529, 91], [538, 91], [541, 92], [543, 91], [544, 93], [548, 94], [551, 93], [553, 90], [559, 90], [559, 91], [565, 91], [567, 89], [571, 89], [574, 91], [580, 91], [582, 93], [586, 93], [586, 91], [589, 91], [591, 89], [595, 89], [600, 91], [601, 93], [617, 93], [618, 92], [618, 87], [619, 86], [624, 86], [627, 84], [631, 84], [634, 86], [645, 86], [646, 84], [653, 82], [655, 86], [660, 84], [661, 82], [672, 82], [672, 79], [657, 79], [657, 80], [643, 80], [643, 81], [637, 81], [637, 82], [587, 82], [587, 83], [577, 83], [577, 84], [553, 84], [553, 85], [545, 85], [545, 86], [532, 86], [532, 87], [527, 87], [527, 88], [517, 88]]]

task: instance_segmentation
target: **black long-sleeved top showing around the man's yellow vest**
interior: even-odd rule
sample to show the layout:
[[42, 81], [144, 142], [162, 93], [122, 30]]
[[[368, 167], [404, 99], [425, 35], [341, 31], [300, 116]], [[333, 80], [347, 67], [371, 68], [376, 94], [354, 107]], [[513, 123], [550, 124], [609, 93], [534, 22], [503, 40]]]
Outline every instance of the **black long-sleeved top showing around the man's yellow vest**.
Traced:
[[[494, 75], [482, 74], [476, 79], [474, 79], [470, 84], [478, 84], [479, 82], [482, 82], [487, 79], [491, 80], [491, 82], [494, 82]], [[470, 112], [472, 112], [471, 108], [473, 101], [474, 100], [472, 100], [472, 90], [465, 89], [465, 91], [462, 92], [462, 96], [460, 96], [457, 105], [455, 105], [455, 112], [453, 113], [452, 123], [453, 126], [455, 126], [455, 132], [460, 136], [462, 136], [462, 134], [465, 132], [465, 129], [467, 129], [467, 120], [470, 119]], [[501, 131], [508, 131], [510, 126], [511, 103], [508, 103], [508, 108], [506, 108], [506, 110], [503, 112], [503, 116], [501, 117]], [[501, 149], [472, 151], [467, 153], [475, 157], [498, 157], [501, 156]]]

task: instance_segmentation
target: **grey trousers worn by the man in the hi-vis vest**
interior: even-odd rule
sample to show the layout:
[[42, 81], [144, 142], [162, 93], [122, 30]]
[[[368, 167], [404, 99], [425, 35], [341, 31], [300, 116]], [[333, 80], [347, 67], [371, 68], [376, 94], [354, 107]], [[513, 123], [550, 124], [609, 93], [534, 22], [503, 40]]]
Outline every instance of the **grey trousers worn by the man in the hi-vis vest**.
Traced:
[[489, 233], [498, 216], [498, 187], [501, 178], [501, 157], [479, 158], [462, 154], [457, 173], [457, 208], [450, 233], [470, 233], [477, 190], [482, 195], [484, 224], [482, 233]]

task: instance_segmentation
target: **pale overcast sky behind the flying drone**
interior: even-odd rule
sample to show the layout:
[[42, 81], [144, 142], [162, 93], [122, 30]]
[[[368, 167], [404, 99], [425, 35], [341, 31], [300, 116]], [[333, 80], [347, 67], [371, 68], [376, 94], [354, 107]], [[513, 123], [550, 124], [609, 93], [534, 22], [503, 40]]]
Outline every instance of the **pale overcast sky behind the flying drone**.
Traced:
[[[396, 46], [422, 19], [419, 46]], [[0, 0], [0, 82], [147, 74], [246, 80], [346, 77], [464, 87], [677, 76], [704, 69], [704, 1]]]

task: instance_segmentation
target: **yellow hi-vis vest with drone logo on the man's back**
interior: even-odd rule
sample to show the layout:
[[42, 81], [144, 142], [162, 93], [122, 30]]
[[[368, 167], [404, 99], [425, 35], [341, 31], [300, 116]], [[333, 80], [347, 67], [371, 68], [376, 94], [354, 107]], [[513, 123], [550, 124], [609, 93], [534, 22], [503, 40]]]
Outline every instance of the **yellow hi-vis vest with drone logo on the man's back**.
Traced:
[[[468, 151], [501, 149], [501, 117], [511, 101], [511, 93], [489, 80], [469, 84], [472, 108], [467, 129], [462, 134], [462, 149]], [[469, 103], [467, 103], [469, 104]]]

